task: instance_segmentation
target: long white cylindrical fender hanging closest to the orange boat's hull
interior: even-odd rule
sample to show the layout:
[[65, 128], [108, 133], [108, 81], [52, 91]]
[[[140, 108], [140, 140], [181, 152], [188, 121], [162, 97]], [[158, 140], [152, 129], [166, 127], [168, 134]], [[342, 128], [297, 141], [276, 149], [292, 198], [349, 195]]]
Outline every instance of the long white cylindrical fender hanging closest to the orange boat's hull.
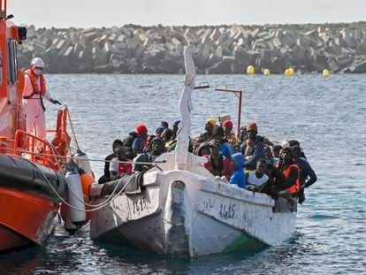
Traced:
[[84, 204], [84, 194], [82, 193], [80, 175], [78, 172], [70, 171], [65, 175], [67, 184], [67, 199], [73, 209], [69, 207], [70, 220], [72, 224], [81, 226], [87, 220]]

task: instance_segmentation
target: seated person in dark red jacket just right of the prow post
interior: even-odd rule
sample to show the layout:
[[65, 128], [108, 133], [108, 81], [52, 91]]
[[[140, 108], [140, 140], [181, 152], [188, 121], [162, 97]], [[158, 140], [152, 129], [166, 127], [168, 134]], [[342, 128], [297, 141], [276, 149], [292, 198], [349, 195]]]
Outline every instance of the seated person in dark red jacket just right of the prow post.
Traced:
[[209, 161], [203, 166], [209, 170], [215, 177], [225, 176], [230, 179], [233, 174], [233, 164], [226, 157], [220, 154], [220, 141], [212, 140], [210, 144], [210, 155], [206, 155]]

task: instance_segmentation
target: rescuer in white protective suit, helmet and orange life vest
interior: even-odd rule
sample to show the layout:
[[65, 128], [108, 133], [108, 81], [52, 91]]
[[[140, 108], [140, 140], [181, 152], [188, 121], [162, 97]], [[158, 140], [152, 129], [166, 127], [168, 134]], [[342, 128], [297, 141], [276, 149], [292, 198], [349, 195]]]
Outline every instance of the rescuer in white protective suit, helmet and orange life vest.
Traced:
[[32, 60], [30, 68], [26, 71], [25, 84], [23, 90], [23, 104], [27, 119], [27, 133], [46, 139], [46, 118], [44, 112], [43, 99], [50, 103], [60, 104], [50, 96], [46, 87], [46, 80], [42, 74], [45, 67], [41, 58], [35, 57]]

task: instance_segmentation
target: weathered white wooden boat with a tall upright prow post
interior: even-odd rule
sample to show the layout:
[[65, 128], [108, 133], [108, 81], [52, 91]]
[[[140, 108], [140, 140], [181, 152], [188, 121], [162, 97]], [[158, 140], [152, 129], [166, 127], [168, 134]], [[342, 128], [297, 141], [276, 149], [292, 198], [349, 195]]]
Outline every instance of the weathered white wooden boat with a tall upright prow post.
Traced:
[[[256, 244], [275, 246], [294, 233], [295, 200], [274, 201], [216, 179], [202, 167], [202, 157], [188, 152], [194, 52], [193, 43], [184, 52], [186, 81], [179, 101], [177, 149], [158, 157], [156, 167], [142, 176], [117, 183], [128, 192], [118, 192], [106, 207], [92, 213], [92, 240], [194, 257]], [[95, 204], [107, 200], [103, 186], [92, 186], [90, 195]]]

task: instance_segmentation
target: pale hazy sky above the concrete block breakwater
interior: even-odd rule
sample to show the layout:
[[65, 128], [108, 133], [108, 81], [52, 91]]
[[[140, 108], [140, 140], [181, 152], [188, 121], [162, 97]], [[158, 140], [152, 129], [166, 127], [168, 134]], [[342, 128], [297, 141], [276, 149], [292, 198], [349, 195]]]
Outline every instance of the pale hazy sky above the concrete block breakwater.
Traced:
[[333, 23], [365, 21], [366, 0], [9, 0], [8, 13], [36, 27]]

